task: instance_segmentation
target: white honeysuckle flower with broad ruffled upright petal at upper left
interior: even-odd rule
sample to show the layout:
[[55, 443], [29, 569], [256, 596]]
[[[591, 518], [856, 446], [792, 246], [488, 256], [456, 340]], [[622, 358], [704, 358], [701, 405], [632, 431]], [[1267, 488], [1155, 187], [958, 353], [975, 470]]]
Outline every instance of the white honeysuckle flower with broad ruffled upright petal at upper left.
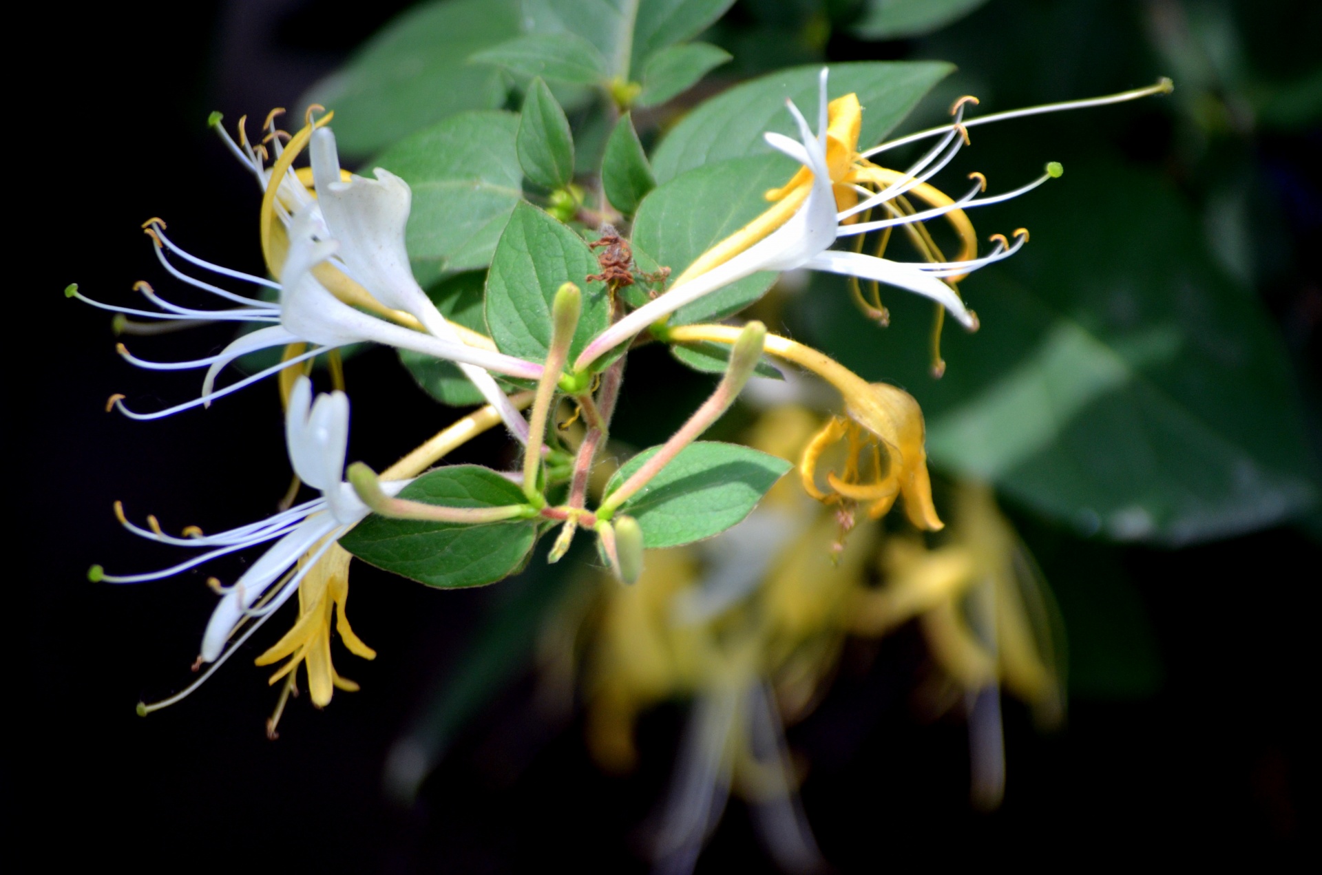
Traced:
[[[374, 171], [374, 180], [353, 174], [342, 181], [330, 128], [313, 131], [308, 149], [317, 205], [330, 235], [340, 243], [337, 256], [345, 274], [386, 307], [414, 316], [436, 337], [463, 344], [453, 325], [414, 279], [408, 264], [405, 247], [412, 204], [408, 184], [382, 168]], [[514, 436], [527, 443], [527, 420], [514, 410], [492, 375], [476, 365], [460, 363], [459, 369], [477, 386], [486, 403], [500, 411]]]

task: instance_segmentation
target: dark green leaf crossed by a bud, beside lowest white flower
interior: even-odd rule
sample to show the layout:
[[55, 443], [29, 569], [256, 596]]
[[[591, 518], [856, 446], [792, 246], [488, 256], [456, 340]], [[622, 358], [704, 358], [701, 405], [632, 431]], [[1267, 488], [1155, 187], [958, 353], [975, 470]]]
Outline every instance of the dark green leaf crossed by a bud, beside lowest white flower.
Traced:
[[[524, 490], [490, 468], [452, 465], [405, 486], [401, 498], [448, 508], [521, 505]], [[428, 587], [480, 587], [517, 571], [537, 541], [533, 519], [461, 526], [368, 517], [340, 545], [378, 568]]]

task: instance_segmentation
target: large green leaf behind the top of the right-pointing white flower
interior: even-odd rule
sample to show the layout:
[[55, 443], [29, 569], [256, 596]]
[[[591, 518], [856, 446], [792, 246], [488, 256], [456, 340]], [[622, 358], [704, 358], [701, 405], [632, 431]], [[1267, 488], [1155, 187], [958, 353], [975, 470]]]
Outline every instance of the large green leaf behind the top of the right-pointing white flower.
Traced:
[[[935, 61], [869, 61], [830, 65], [829, 99], [857, 93], [863, 104], [859, 145], [869, 145], [908, 115], [928, 90], [954, 67]], [[713, 161], [761, 155], [772, 148], [765, 131], [798, 139], [798, 130], [785, 99], [808, 119], [817, 118], [820, 65], [791, 67], [730, 89], [686, 115], [674, 126], [652, 156], [657, 180], [668, 182], [680, 173]]]

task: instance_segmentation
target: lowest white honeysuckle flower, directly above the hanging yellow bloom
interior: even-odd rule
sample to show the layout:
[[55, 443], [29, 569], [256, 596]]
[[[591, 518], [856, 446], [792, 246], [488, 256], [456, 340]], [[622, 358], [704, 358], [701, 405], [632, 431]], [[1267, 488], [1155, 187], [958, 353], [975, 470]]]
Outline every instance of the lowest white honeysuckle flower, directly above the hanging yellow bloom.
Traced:
[[[299, 583], [312, 570], [316, 560], [330, 549], [350, 527], [368, 517], [370, 510], [358, 498], [353, 486], [344, 482], [345, 452], [349, 443], [349, 399], [341, 391], [320, 395], [313, 403], [312, 381], [300, 377], [290, 394], [286, 412], [286, 443], [295, 473], [321, 496], [262, 522], [239, 526], [217, 535], [196, 533], [182, 538], [167, 535], [155, 518], [148, 518], [149, 529], [128, 522], [116, 505], [120, 522], [134, 534], [151, 541], [181, 547], [204, 547], [206, 552], [186, 562], [136, 575], [107, 575], [94, 566], [90, 578], [107, 583], [143, 583], [175, 576], [218, 556], [275, 542], [253, 566], [227, 588], [212, 613], [202, 637], [201, 660], [218, 667], [247, 640], [258, 627], [297, 592]], [[395, 496], [411, 480], [383, 480], [382, 490]], [[300, 558], [308, 556], [300, 563]], [[295, 570], [295, 566], [297, 568]], [[291, 574], [291, 570], [292, 574]], [[276, 590], [268, 591], [275, 586]], [[260, 604], [259, 604], [260, 601]], [[254, 617], [249, 630], [233, 646], [226, 642], [245, 617]], [[197, 683], [210, 675], [210, 670]], [[197, 686], [194, 683], [177, 697], [155, 707], [173, 703]]]

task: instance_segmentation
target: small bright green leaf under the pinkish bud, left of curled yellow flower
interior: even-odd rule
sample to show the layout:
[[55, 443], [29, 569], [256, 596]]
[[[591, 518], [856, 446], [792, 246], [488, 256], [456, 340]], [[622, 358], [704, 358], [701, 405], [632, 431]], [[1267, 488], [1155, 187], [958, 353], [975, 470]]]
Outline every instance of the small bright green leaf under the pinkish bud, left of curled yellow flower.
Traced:
[[[615, 472], [609, 496], [660, 447], [644, 449]], [[793, 465], [751, 447], [699, 440], [689, 444], [646, 486], [620, 505], [642, 527], [642, 546], [677, 547], [720, 534], [747, 517]]]

